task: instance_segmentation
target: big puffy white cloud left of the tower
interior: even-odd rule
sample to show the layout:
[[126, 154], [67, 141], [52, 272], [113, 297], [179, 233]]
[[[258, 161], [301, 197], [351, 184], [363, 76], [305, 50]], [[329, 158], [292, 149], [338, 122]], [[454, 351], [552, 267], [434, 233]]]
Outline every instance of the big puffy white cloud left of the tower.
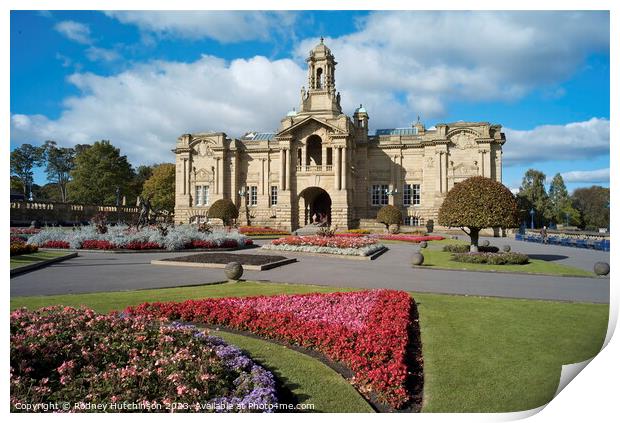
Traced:
[[303, 78], [293, 61], [264, 57], [160, 61], [109, 77], [75, 73], [69, 81], [80, 94], [65, 100], [61, 116], [13, 115], [11, 140], [74, 145], [109, 139], [134, 164], [172, 161], [182, 133], [276, 130], [297, 105]]

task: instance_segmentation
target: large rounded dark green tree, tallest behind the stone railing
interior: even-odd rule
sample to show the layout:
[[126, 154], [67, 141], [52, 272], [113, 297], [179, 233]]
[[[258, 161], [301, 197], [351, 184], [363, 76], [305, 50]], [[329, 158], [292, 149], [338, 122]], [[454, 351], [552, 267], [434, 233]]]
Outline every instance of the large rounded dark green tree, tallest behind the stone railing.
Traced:
[[130, 190], [133, 170], [120, 150], [110, 141], [97, 141], [81, 148], [71, 171], [69, 199], [83, 204], [116, 204], [119, 195]]

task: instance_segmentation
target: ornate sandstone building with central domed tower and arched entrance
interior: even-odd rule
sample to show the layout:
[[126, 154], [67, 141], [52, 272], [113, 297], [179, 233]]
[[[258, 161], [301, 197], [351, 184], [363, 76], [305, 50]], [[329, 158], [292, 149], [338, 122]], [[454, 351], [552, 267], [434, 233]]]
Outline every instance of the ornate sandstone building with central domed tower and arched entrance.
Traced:
[[313, 218], [338, 228], [368, 227], [393, 204], [404, 225], [436, 220], [454, 184], [482, 175], [502, 180], [500, 125], [437, 124], [426, 129], [379, 129], [369, 134], [360, 105], [347, 116], [336, 91], [336, 61], [323, 40], [310, 51], [308, 89], [298, 111], [274, 133], [185, 134], [176, 148], [175, 221], [207, 216], [209, 205], [229, 198], [239, 222], [297, 229]]

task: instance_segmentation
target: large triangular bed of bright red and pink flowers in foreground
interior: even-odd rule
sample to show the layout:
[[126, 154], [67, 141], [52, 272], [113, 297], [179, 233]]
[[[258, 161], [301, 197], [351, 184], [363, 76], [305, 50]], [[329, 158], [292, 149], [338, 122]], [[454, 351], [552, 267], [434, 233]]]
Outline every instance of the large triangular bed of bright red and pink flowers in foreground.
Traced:
[[305, 348], [346, 364], [360, 392], [393, 407], [411, 399], [411, 353], [417, 343], [413, 299], [401, 291], [373, 290], [145, 303], [127, 312], [224, 325]]

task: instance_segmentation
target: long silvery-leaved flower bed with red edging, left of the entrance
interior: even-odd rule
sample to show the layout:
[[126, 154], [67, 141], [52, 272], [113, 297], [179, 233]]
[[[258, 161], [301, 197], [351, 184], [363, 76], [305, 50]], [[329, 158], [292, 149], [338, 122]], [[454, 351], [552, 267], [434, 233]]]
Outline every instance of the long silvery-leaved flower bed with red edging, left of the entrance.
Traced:
[[72, 231], [45, 228], [31, 236], [28, 244], [42, 248], [176, 251], [186, 248], [240, 248], [251, 245], [252, 240], [237, 232], [201, 232], [190, 225], [170, 227], [167, 231], [160, 231], [156, 227], [136, 230], [118, 225], [110, 226], [104, 234], [97, 232], [94, 225], [90, 225]]

